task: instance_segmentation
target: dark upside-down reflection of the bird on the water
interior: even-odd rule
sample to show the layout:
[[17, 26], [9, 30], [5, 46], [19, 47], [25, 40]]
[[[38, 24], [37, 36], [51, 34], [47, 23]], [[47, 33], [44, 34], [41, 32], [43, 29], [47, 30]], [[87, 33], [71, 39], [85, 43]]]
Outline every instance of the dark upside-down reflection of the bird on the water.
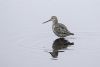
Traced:
[[65, 40], [65, 38], [58, 38], [54, 41], [52, 45], [52, 52], [49, 52], [53, 58], [58, 57], [59, 52], [64, 52], [61, 51], [62, 49], [66, 49], [68, 46], [74, 45], [74, 43], [69, 42], [68, 40]]

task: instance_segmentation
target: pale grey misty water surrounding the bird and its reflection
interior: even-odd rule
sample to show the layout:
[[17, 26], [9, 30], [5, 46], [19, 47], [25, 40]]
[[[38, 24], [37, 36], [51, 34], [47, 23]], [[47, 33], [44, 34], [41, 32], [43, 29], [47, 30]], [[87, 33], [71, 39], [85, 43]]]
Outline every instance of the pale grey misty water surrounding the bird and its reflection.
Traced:
[[[75, 33], [58, 60], [52, 23], [42, 24], [53, 15]], [[0, 0], [0, 67], [100, 67], [99, 29], [100, 0]]]

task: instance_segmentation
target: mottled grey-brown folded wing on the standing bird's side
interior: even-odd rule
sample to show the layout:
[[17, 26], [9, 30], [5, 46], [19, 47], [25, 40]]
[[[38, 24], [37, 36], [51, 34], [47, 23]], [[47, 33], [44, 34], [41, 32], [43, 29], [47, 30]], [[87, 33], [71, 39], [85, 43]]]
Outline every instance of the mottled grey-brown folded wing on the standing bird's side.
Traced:
[[69, 32], [69, 31], [67, 30], [66, 26], [63, 25], [63, 24], [61, 24], [61, 23], [60, 23], [58, 26], [56, 26], [56, 27], [54, 28], [54, 30], [55, 30], [55, 32], [57, 32], [57, 33], [59, 33], [59, 34], [66, 34], [67, 32]]

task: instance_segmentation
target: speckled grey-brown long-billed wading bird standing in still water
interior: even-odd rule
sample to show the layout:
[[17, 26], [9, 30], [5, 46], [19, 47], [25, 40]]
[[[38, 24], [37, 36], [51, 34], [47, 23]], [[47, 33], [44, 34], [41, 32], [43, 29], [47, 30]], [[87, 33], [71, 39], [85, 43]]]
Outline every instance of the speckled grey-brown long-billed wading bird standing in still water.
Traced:
[[49, 22], [49, 21], [53, 22], [52, 30], [55, 33], [55, 35], [57, 35], [58, 37], [66, 37], [69, 35], [74, 35], [70, 31], [68, 31], [67, 27], [64, 24], [58, 23], [58, 19], [56, 16], [52, 16], [51, 19], [46, 22]]

